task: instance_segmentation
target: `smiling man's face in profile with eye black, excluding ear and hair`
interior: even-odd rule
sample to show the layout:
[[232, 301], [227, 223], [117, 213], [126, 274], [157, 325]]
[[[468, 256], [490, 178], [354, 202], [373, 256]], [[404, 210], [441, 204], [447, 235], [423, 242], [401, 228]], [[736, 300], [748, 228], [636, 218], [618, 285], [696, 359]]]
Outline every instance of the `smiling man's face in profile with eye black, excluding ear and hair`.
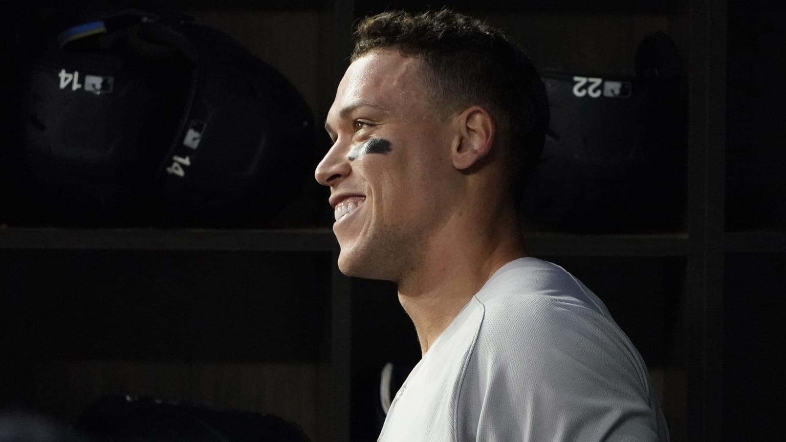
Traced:
[[347, 68], [315, 176], [330, 186], [345, 274], [397, 281], [450, 217], [454, 131], [422, 83], [421, 62], [373, 50]]

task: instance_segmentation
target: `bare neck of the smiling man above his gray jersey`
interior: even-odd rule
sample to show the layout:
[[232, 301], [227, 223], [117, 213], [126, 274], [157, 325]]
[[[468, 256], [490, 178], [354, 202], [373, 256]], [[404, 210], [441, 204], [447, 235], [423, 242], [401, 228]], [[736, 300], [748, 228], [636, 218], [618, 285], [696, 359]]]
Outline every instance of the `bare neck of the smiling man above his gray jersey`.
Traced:
[[494, 272], [526, 256], [515, 216], [505, 218], [482, 231], [444, 230], [399, 281], [399, 301], [423, 355]]

